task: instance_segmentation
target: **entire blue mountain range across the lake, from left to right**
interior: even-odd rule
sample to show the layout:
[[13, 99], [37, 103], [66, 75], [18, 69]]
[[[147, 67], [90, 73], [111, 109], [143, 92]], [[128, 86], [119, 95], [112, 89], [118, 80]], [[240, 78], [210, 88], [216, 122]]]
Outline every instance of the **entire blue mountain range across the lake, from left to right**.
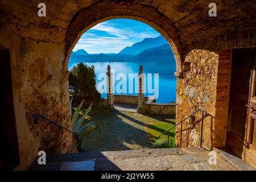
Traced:
[[[94, 53], [89, 54], [84, 49], [72, 52], [69, 61], [79, 62], [122, 62], [122, 61], [151, 61], [167, 62], [174, 61], [171, 48], [163, 36], [146, 38], [142, 42], [126, 47], [119, 53]], [[170, 63], [170, 62], [169, 62]]]

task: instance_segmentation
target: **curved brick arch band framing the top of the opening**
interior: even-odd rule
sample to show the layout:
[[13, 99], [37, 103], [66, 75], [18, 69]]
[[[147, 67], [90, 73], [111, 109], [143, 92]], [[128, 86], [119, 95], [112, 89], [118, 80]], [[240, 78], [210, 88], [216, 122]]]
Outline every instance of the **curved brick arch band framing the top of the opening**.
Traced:
[[170, 44], [176, 61], [177, 76], [182, 74], [182, 49], [180, 36], [170, 19], [153, 7], [136, 2], [100, 2], [81, 9], [71, 20], [65, 36], [65, 70], [68, 59], [81, 35], [96, 24], [110, 19], [127, 18], [146, 23], [158, 31]]

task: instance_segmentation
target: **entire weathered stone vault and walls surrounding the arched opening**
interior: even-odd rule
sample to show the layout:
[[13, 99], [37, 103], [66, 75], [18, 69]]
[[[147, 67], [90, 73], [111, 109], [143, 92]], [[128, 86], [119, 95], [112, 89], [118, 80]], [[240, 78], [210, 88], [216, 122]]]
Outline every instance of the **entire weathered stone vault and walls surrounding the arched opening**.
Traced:
[[[74, 151], [73, 137], [39, 121], [42, 113], [71, 129], [68, 59], [80, 36], [97, 23], [130, 18], [147, 23], [170, 44], [176, 61], [177, 121], [199, 107], [207, 110], [205, 148], [225, 146], [230, 71], [229, 51], [256, 47], [254, 1], [48, 1], [46, 17], [37, 1], [0, 1], [0, 49], [10, 51], [14, 113], [20, 164], [25, 169], [39, 150], [47, 154]], [[178, 131], [179, 129], [177, 129]], [[196, 144], [200, 113], [183, 125], [182, 146]], [[176, 143], [179, 144], [179, 133]]]

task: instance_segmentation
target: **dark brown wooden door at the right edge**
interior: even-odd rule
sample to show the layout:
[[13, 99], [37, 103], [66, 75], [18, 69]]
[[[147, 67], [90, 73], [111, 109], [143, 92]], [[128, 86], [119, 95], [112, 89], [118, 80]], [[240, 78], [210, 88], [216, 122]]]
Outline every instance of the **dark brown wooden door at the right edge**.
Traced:
[[[246, 153], [248, 153], [246, 148], [248, 147], [248, 143], [250, 143], [247, 136], [249, 123], [250, 127], [254, 127], [251, 126], [251, 123], [254, 123], [254, 119], [251, 119], [250, 114], [250, 100], [252, 93], [254, 93], [253, 90], [255, 90], [254, 75], [256, 64], [254, 54], [254, 48], [233, 49], [232, 54], [229, 127], [226, 145], [234, 154], [244, 160], [246, 160]], [[253, 159], [250, 158], [250, 160]]]

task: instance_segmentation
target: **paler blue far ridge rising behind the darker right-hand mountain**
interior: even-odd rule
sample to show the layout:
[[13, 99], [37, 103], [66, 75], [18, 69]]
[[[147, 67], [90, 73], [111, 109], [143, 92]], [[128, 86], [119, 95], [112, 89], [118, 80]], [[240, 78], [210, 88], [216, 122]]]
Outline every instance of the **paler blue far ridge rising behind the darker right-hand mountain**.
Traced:
[[158, 47], [163, 44], [167, 44], [167, 41], [161, 35], [156, 38], [146, 38], [142, 40], [142, 42], [135, 43], [131, 47], [126, 47], [122, 49], [122, 51], [120, 51], [118, 55], [135, 56], [148, 48]]

